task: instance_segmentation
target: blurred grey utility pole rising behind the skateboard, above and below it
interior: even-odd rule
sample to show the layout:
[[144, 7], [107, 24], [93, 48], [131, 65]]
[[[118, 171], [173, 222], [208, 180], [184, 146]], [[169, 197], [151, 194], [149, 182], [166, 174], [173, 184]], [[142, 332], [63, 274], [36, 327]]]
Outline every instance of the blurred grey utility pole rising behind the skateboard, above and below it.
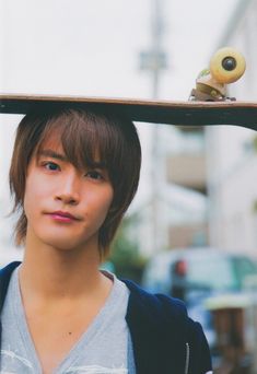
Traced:
[[[142, 51], [141, 69], [148, 70], [151, 73], [152, 79], [152, 98], [159, 97], [160, 91], [160, 77], [162, 71], [167, 67], [166, 54], [162, 47], [162, 37], [164, 33], [164, 20], [163, 20], [163, 0], [152, 0], [152, 20], [151, 20], [151, 47], [147, 51]], [[163, 243], [163, 226], [160, 222], [160, 189], [163, 182], [163, 166], [161, 157], [161, 144], [160, 144], [160, 126], [152, 125], [152, 150], [151, 150], [151, 221], [152, 221], [152, 249], [159, 252], [162, 248]]]

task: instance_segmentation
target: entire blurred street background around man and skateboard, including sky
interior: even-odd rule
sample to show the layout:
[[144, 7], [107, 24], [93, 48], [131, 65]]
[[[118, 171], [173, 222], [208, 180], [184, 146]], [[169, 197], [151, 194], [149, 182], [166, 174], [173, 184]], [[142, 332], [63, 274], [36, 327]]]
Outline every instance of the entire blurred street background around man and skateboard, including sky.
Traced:
[[[0, 0], [1, 93], [187, 101], [220, 47], [230, 96], [257, 101], [257, 0]], [[13, 243], [8, 171], [22, 116], [0, 115], [0, 267]], [[257, 132], [136, 124], [138, 195], [105, 267], [185, 300], [217, 373], [257, 373]]]

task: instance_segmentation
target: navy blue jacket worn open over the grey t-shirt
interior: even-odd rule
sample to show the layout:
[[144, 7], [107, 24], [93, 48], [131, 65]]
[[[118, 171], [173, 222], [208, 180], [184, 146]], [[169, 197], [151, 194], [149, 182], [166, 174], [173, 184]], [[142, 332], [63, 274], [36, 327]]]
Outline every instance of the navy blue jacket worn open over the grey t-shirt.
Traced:
[[[11, 262], [0, 271], [0, 313], [11, 273], [19, 264]], [[131, 281], [124, 282], [130, 290], [126, 319], [137, 374], [203, 374], [211, 371], [209, 347], [201, 326], [187, 316], [184, 303], [150, 294]]]

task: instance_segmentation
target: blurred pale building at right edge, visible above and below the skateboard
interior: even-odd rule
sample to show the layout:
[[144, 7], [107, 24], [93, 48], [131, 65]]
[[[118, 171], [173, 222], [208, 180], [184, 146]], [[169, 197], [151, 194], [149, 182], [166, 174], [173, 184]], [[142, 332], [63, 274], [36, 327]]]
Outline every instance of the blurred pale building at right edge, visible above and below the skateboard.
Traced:
[[[256, 38], [257, 1], [240, 1], [220, 43], [246, 58], [245, 75], [230, 87], [237, 100], [257, 100]], [[219, 126], [207, 129], [207, 139], [211, 245], [257, 256], [257, 133]]]

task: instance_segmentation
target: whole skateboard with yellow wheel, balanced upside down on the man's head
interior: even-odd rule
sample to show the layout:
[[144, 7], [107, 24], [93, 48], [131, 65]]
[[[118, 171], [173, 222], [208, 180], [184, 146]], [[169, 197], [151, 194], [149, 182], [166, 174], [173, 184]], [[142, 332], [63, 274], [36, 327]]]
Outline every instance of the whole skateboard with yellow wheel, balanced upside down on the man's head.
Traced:
[[98, 108], [133, 121], [177, 126], [235, 125], [257, 130], [257, 103], [226, 96], [226, 84], [245, 71], [244, 57], [232, 48], [217, 51], [197, 78], [189, 101], [152, 101], [55, 95], [0, 94], [0, 113], [27, 114], [62, 107]]

